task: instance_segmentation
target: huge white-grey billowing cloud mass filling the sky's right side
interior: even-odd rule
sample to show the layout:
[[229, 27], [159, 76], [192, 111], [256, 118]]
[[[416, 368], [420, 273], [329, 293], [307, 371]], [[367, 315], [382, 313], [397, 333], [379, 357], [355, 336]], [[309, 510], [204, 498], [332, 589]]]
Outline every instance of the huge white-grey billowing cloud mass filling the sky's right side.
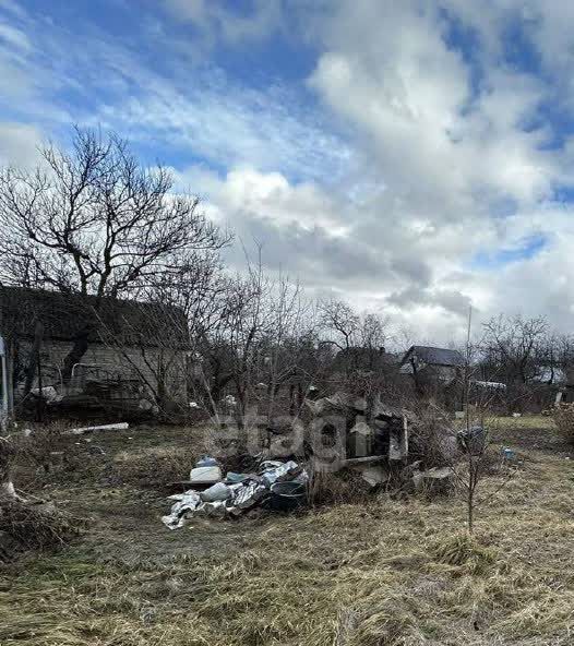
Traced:
[[[364, 175], [379, 178], [376, 190], [368, 181], [340, 192], [308, 182], [315, 200], [306, 200], [280, 174], [236, 169], [211, 184], [214, 211], [242, 236], [265, 239], [267, 262], [291, 268], [313, 290], [376, 303], [438, 338], [462, 328], [470, 303], [478, 322], [502, 310], [550, 308], [564, 325], [572, 280], [552, 231], [567, 215], [550, 216], [547, 206], [564, 158], [543, 146], [547, 127], [530, 127], [546, 82], [487, 52], [476, 88], [438, 12], [416, 3], [334, 4], [322, 16], [325, 51], [310, 85], [357, 129], [356, 154]], [[503, 200], [517, 205], [514, 216], [492, 211]], [[335, 239], [330, 213], [345, 224]], [[513, 248], [534, 234], [548, 240], [535, 258], [473, 266], [477, 252]], [[550, 289], [547, 276], [557, 277]], [[539, 302], [527, 297], [529, 283], [545, 295]]]

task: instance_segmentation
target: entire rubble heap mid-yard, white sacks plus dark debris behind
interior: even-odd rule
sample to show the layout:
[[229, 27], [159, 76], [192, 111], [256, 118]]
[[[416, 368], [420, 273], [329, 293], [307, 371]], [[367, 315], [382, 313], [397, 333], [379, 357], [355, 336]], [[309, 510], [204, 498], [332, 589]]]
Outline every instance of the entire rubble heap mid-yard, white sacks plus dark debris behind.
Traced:
[[277, 422], [266, 431], [256, 472], [224, 477], [215, 458], [201, 459], [189, 480], [175, 483], [189, 488], [169, 497], [175, 503], [164, 524], [176, 529], [198, 516], [224, 518], [260, 506], [300, 506], [309, 481], [302, 464], [311, 474], [355, 472], [368, 491], [392, 479], [412, 490], [446, 490], [453, 476], [447, 465], [461, 442], [446, 422], [441, 421], [434, 435], [426, 435], [424, 423], [411, 411], [383, 403], [380, 395], [342, 392], [307, 398], [294, 423]]

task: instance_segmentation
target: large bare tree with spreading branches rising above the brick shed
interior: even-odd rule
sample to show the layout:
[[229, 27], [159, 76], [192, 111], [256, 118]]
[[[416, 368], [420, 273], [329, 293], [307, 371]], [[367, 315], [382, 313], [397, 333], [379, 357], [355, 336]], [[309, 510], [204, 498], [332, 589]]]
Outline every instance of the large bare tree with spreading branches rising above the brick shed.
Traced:
[[[210, 262], [227, 241], [175, 194], [162, 165], [143, 167], [125, 141], [75, 130], [71, 151], [50, 144], [34, 170], [0, 171], [0, 280], [77, 294], [98, 310], [105, 297], [137, 297], [160, 278]], [[91, 297], [91, 298], [88, 298]], [[84, 356], [88, 321], [64, 360]]]

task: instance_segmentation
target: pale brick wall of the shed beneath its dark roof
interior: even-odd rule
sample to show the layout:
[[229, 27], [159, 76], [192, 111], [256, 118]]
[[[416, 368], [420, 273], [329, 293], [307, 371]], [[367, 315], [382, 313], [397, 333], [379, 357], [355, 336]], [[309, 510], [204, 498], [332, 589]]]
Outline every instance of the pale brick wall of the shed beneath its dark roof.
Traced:
[[[61, 390], [61, 369], [72, 349], [71, 342], [45, 340], [40, 350], [43, 386]], [[32, 342], [20, 340], [19, 361], [27, 363]], [[167, 367], [167, 395], [181, 400], [186, 397], [186, 352], [164, 348], [123, 348], [121, 351], [103, 344], [91, 344], [81, 364], [74, 370], [72, 387], [81, 387], [85, 379], [133, 379], [157, 391], [158, 374]]]

